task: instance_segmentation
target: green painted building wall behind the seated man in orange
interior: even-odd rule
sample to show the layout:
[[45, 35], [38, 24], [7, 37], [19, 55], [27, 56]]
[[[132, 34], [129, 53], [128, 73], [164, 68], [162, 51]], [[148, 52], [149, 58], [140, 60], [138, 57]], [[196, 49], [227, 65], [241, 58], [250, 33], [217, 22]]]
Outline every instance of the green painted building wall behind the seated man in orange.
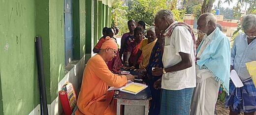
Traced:
[[[73, 0], [73, 6], [74, 57], [80, 59], [111, 24], [111, 10], [97, 0]], [[0, 7], [0, 115], [28, 115], [39, 104], [36, 35], [42, 38], [48, 104], [64, 78], [64, 0], [1, 0]]]

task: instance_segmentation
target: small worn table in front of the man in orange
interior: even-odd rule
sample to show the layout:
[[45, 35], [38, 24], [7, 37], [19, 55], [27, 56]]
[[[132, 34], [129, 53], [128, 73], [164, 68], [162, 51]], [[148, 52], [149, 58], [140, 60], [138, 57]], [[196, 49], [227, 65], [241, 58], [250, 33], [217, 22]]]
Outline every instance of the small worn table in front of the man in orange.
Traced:
[[121, 105], [125, 105], [125, 115], [127, 115], [127, 113], [128, 115], [141, 115], [137, 113], [136, 110], [139, 112], [144, 111], [144, 114], [148, 115], [149, 100], [151, 100], [152, 97], [150, 89], [147, 87], [136, 95], [119, 91], [119, 94], [114, 95], [114, 99], [117, 99], [117, 115], [120, 115]]

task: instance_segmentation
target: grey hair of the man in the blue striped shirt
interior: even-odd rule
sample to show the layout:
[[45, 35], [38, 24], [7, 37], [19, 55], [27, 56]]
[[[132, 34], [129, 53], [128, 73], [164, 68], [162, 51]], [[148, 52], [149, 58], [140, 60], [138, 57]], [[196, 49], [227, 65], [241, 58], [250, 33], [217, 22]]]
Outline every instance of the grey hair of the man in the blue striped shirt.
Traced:
[[242, 20], [242, 29], [250, 30], [253, 28], [256, 29], [256, 15], [245, 15]]

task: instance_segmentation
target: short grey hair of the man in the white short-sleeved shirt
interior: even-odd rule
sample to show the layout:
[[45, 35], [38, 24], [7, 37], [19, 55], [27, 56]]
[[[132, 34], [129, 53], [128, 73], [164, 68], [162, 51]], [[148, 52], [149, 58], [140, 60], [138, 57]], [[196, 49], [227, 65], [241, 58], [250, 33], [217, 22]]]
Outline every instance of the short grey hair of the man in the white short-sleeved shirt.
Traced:
[[165, 17], [166, 19], [169, 18], [171, 20], [174, 20], [173, 18], [173, 13], [171, 12], [171, 10], [167, 10], [167, 9], [162, 9], [159, 10], [156, 15], [155, 15], [155, 20], [159, 20], [162, 17]]

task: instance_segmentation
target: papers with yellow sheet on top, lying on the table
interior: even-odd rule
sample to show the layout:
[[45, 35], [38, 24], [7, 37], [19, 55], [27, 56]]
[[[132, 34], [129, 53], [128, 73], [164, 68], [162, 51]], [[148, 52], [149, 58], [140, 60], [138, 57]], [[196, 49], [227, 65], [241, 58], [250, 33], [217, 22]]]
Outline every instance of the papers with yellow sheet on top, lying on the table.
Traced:
[[120, 90], [122, 92], [126, 92], [126, 93], [130, 93], [130, 94], [134, 94], [136, 95], [137, 93], [139, 93], [140, 91], [142, 91], [143, 89], [147, 88], [148, 86], [144, 85], [144, 84], [140, 84], [140, 83], [128, 83], [126, 86], [122, 86], [122, 87], [114, 87], [111, 86], [109, 90]]

